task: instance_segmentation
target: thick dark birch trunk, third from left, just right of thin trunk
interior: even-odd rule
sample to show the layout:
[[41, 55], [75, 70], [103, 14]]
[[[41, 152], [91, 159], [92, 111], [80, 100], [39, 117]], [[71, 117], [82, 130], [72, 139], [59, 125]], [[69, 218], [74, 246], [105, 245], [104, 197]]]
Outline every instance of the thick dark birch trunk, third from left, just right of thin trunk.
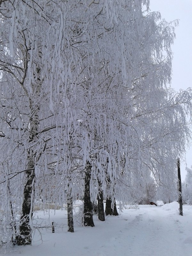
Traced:
[[90, 197], [91, 164], [87, 162], [85, 172], [85, 191], [84, 191], [84, 220], [85, 227], [94, 227], [93, 206]]

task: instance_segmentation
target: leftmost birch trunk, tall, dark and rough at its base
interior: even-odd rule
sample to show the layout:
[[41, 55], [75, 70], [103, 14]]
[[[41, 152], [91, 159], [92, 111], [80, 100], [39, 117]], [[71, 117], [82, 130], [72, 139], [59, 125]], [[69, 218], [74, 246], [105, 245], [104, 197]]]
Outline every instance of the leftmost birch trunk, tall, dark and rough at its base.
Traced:
[[[27, 59], [28, 57], [26, 57]], [[41, 47], [38, 51], [38, 60], [42, 59]], [[31, 111], [31, 117], [29, 119], [29, 139], [28, 139], [28, 149], [27, 157], [28, 164], [26, 170], [26, 184], [23, 192], [23, 204], [22, 204], [22, 215], [21, 215], [21, 224], [20, 232], [17, 239], [18, 245], [31, 244], [31, 226], [32, 224], [32, 211], [33, 211], [33, 201], [34, 201], [34, 190], [35, 190], [35, 165], [39, 160], [41, 153], [37, 155], [37, 152], [34, 151], [33, 146], [38, 141], [38, 128], [39, 128], [39, 108], [38, 100], [40, 98], [40, 89], [43, 82], [41, 77], [41, 67], [36, 63], [36, 74], [33, 74], [36, 82], [31, 84], [32, 94], [24, 88], [28, 98], [29, 98], [29, 108]], [[27, 66], [26, 66], [27, 70]], [[31, 222], [31, 223], [30, 223]]]

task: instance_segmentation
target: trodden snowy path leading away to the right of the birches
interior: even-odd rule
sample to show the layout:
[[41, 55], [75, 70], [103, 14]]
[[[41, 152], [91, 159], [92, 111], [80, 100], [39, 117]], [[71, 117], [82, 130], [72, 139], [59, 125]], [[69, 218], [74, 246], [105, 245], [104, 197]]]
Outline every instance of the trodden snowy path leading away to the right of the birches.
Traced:
[[186, 241], [182, 235], [181, 216], [176, 215], [175, 219], [173, 214], [166, 218], [159, 215], [159, 209], [155, 206], [149, 206], [145, 211], [139, 210], [141, 213], [131, 221], [125, 219], [124, 227], [119, 225], [121, 228], [105, 244], [106, 250], [101, 247], [103, 252], [95, 255], [111, 255], [107, 250], [109, 247], [115, 252], [112, 255], [192, 255], [192, 246], [189, 251], [183, 246]]

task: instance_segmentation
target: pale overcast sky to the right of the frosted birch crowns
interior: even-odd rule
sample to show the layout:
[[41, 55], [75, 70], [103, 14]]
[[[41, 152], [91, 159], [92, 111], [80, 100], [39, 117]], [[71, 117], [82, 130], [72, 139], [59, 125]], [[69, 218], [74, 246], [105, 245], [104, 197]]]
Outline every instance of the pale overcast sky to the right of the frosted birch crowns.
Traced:
[[[172, 46], [172, 84], [176, 91], [192, 87], [192, 0], [150, 0], [150, 10], [159, 11], [166, 21], [179, 19], [175, 28], [176, 39]], [[184, 156], [185, 157], [185, 156]], [[192, 165], [192, 147], [181, 162], [181, 179], [185, 179], [186, 164]]]

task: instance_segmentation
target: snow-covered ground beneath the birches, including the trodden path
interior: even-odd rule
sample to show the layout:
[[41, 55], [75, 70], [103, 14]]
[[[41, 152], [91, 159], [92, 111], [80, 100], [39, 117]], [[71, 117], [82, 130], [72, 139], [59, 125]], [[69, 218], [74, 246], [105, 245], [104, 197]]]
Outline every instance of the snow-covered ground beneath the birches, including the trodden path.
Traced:
[[[117, 206], [118, 207], [118, 206]], [[76, 210], [77, 210], [76, 206]], [[192, 206], [140, 205], [124, 209], [119, 216], [107, 216], [104, 222], [94, 216], [95, 227], [78, 226], [75, 233], [67, 232], [67, 211], [37, 211], [34, 224], [51, 228], [35, 229], [32, 246], [15, 246], [14, 256], [191, 256]]]

